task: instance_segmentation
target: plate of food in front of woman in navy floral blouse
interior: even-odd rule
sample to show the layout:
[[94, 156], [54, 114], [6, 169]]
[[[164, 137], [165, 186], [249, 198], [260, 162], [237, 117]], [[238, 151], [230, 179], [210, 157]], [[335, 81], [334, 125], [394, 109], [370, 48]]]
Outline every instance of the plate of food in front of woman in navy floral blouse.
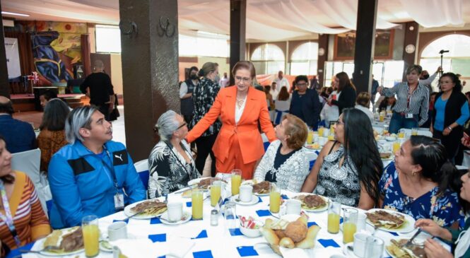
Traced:
[[413, 231], [415, 219], [408, 214], [387, 209], [370, 209], [365, 213], [366, 222], [373, 227], [394, 233], [409, 233]]

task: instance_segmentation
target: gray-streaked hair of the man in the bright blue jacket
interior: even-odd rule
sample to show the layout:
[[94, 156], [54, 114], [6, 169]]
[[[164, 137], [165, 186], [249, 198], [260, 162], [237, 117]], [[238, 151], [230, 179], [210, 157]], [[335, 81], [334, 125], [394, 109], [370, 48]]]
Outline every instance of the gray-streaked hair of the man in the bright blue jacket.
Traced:
[[91, 105], [76, 107], [70, 112], [65, 123], [65, 137], [69, 143], [74, 144], [76, 140], [83, 141], [80, 129], [91, 129], [91, 116], [95, 111], [99, 111], [98, 107]]

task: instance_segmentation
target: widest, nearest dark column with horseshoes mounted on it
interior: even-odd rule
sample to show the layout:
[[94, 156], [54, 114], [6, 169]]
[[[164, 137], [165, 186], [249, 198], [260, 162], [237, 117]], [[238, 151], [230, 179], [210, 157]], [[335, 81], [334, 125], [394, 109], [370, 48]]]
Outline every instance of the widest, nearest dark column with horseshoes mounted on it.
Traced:
[[126, 142], [137, 161], [157, 141], [158, 117], [180, 112], [177, 1], [120, 0], [119, 16]]

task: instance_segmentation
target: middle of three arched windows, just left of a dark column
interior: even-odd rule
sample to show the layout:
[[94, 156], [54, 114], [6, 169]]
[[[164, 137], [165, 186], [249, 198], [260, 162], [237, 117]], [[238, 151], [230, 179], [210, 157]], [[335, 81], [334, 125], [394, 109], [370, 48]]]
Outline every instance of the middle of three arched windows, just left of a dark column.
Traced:
[[290, 58], [290, 74], [316, 75], [318, 43], [306, 42], [295, 48]]

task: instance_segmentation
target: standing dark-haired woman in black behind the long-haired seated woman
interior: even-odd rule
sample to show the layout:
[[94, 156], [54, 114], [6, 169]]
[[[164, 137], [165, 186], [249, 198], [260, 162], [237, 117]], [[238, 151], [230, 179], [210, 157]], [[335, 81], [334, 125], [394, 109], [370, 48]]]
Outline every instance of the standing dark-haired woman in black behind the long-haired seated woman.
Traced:
[[336, 95], [338, 98], [330, 98], [328, 100], [328, 104], [338, 106], [339, 115], [341, 115], [343, 109], [354, 107], [356, 104], [356, 87], [349, 79], [348, 74], [343, 71], [341, 71], [339, 74], [336, 74], [334, 78], [334, 84], [337, 88]]

